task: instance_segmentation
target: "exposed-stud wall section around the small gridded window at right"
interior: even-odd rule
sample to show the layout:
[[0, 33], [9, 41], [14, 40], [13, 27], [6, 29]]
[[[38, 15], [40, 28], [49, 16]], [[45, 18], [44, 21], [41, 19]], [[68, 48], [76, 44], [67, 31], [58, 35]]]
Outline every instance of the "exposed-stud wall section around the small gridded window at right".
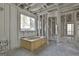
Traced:
[[61, 30], [62, 36], [74, 36], [75, 34], [75, 22], [73, 13], [67, 13], [61, 16]]

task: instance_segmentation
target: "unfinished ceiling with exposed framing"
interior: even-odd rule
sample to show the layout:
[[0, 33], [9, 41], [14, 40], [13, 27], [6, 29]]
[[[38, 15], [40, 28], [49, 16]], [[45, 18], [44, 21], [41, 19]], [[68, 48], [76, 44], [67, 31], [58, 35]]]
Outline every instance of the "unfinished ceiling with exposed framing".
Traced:
[[68, 3], [15, 3], [16, 6], [20, 7], [21, 9], [25, 9], [33, 14], [40, 13], [49, 7], [52, 8], [51, 6], [62, 6], [64, 4]]

